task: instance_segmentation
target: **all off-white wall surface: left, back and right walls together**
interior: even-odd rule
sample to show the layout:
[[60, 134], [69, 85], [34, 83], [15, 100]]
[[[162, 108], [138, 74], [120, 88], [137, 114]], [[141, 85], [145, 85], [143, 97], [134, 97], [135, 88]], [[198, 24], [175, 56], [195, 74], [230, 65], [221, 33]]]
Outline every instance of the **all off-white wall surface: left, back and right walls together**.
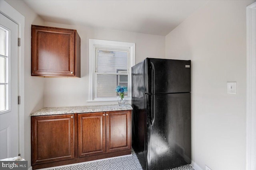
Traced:
[[[25, 16], [25, 158], [31, 164], [31, 111], [81, 106], [88, 100], [88, 38], [136, 43], [146, 57], [192, 60], [192, 159], [202, 169], [244, 170], [246, 148], [246, 6], [254, 0], [210, 1], [166, 37], [45, 22], [23, 1], [6, 0]], [[77, 29], [81, 78], [41, 78], [31, 72], [31, 24]], [[237, 82], [237, 94], [226, 82]]]

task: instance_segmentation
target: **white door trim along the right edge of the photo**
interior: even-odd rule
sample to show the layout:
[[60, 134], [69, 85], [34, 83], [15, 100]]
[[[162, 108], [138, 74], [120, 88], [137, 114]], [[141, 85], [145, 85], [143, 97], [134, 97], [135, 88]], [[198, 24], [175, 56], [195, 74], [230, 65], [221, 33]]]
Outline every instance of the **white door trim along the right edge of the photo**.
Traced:
[[246, 170], [256, 170], [256, 2], [246, 8]]

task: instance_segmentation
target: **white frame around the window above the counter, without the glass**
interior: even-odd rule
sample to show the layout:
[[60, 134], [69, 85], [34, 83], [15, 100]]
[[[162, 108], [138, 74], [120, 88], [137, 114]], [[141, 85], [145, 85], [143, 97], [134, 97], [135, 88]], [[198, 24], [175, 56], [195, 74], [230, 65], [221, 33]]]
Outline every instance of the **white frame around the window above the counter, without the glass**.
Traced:
[[[96, 49], [120, 49], [129, 51], [128, 57], [128, 97], [132, 100], [132, 66], [135, 65], [135, 43], [89, 39], [89, 100], [87, 102], [116, 101], [116, 97], [96, 98]], [[113, 89], [114, 90], [114, 89]]]

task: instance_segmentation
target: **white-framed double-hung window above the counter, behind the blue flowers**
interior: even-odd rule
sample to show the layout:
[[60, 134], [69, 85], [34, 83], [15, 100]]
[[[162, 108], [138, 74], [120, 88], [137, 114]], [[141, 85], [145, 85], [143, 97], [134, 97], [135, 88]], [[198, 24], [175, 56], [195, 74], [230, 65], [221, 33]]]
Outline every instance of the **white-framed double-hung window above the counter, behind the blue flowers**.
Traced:
[[88, 102], [116, 101], [116, 86], [126, 86], [131, 100], [131, 67], [135, 63], [135, 43], [89, 39]]

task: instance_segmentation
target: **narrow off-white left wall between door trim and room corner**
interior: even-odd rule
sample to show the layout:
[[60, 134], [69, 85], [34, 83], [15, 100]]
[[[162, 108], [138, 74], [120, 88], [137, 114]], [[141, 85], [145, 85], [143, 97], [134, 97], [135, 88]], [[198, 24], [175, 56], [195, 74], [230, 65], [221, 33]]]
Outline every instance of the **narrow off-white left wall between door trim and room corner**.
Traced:
[[43, 92], [44, 79], [32, 77], [31, 75], [31, 24], [42, 25], [44, 21], [38, 17], [23, 1], [6, 0], [13, 8], [25, 17], [25, 65], [24, 65], [24, 139], [25, 155], [28, 160], [28, 166], [31, 165], [31, 147], [30, 147], [30, 113], [44, 106]]

